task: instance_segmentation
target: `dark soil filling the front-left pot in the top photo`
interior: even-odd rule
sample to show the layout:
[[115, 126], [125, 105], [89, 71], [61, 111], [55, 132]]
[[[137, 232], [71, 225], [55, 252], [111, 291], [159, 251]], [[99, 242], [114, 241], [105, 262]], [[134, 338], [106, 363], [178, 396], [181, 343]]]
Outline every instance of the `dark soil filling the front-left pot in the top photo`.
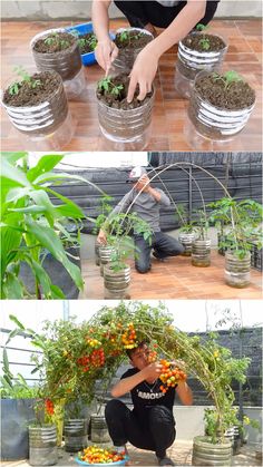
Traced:
[[[32, 87], [30, 82], [35, 80], [40, 81], [39, 85]], [[11, 95], [9, 89], [4, 90], [3, 104], [13, 107], [30, 107], [37, 106], [46, 100], [61, 86], [61, 78], [53, 72], [42, 71], [36, 72], [31, 76], [31, 81], [22, 81], [18, 84], [18, 94]]]

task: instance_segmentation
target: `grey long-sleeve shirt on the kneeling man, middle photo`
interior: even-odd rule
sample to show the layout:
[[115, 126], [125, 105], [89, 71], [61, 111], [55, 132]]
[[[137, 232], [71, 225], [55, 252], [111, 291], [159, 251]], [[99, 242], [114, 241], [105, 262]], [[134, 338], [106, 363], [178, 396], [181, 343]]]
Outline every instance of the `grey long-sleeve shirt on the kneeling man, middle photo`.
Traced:
[[155, 188], [160, 193], [160, 200], [157, 202], [154, 196], [149, 193], [142, 192], [138, 195], [138, 192], [130, 189], [123, 200], [117, 204], [117, 206], [111, 211], [110, 216], [114, 214], [126, 213], [130, 204], [134, 202], [130, 213], [136, 213], [138, 217], [147, 222], [153, 232], [160, 232], [159, 227], [159, 210], [160, 206], [169, 206], [171, 201], [168, 196], [159, 188]]

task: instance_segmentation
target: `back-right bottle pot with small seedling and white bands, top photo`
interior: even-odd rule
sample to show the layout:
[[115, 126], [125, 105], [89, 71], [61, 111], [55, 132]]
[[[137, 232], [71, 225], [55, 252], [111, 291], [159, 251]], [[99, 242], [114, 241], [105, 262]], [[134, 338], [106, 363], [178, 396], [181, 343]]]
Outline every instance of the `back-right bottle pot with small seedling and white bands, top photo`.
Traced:
[[178, 42], [175, 72], [175, 88], [183, 97], [189, 98], [196, 75], [202, 70], [218, 70], [227, 51], [225, 40], [207, 32], [202, 23]]

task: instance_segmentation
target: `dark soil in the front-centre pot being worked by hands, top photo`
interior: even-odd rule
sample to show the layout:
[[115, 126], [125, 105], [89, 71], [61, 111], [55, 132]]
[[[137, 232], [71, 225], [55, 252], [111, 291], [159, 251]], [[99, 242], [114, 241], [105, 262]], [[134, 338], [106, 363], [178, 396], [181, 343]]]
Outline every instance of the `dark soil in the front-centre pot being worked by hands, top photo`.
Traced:
[[[115, 86], [123, 86], [123, 89], [119, 91], [118, 95], [111, 94], [110, 90]], [[126, 74], [121, 74], [116, 76], [115, 78], [110, 78], [110, 86], [109, 90], [99, 89], [97, 88], [97, 98], [101, 100], [106, 106], [113, 108], [119, 108], [123, 110], [132, 110], [138, 107], [142, 107], [149, 98], [153, 96], [153, 90], [146, 95], [144, 100], [138, 100], [137, 96], [139, 94], [139, 87], [137, 86], [134, 99], [130, 104], [127, 103], [127, 94], [129, 87], [129, 77]]]

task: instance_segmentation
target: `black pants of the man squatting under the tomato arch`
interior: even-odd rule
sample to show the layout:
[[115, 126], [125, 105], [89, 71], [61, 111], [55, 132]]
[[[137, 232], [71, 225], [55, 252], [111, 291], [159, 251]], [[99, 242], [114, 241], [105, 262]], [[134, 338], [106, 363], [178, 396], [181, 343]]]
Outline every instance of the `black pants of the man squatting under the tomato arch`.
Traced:
[[175, 440], [175, 420], [164, 406], [149, 408], [143, 422], [124, 402], [113, 399], [106, 406], [105, 418], [115, 446], [129, 441], [136, 448], [154, 450], [163, 458]]

